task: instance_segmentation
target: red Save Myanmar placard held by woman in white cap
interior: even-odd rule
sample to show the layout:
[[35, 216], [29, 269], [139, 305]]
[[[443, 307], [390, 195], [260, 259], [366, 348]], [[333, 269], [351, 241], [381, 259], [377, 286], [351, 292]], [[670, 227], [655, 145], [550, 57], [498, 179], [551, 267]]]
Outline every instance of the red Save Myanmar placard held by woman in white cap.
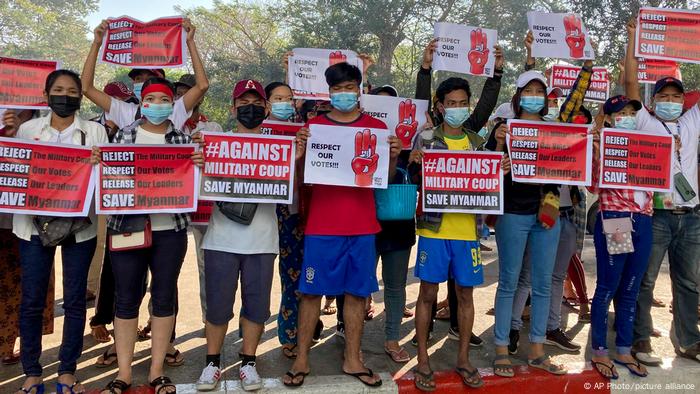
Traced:
[[508, 120], [506, 144], [513, 180], [590, 186], [593, 136], [588, 127]]

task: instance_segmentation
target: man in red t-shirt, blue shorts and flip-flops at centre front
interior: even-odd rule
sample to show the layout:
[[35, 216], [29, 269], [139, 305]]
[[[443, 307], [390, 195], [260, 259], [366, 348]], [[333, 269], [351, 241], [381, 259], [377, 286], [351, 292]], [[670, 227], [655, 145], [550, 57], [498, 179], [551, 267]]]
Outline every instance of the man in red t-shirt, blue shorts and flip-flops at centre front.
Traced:
[[[322, 124], [386, 129], [384, 122], [360, 111], [358, 102], [362, 73], [348, 63], [326, 69], [331, 105], [330, 113], [307, 124]], [[297, 134], [297, 160], [303, 162], [308, 128]], [[389, 178], [396, 172], [401, 141], [389, 137], [391, 160]], [[286, 386], [301, 386], [309, 373], [309, 348], [321, 308], [321, 296], [345, 295], [345, 361], [343, 372], [362, 383], [377, 387], [379, 376], [360, 359], [360, 338], [365, 316], [365, 299], [378, 291], [374, 236], [381, 230], [369, 188], [314, 185], [308, 209], [304, 240], [304, 262], [299, 290], [298, 354], [292, 369], [284, 377]]]

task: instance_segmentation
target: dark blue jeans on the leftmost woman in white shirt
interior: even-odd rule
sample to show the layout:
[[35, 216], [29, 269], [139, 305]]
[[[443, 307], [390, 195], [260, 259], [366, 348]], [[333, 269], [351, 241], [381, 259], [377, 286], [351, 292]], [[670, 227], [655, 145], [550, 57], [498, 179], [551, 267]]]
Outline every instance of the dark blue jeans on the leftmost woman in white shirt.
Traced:
[[[58, 353], [58, 374], [74, 374], [83, 352], [87, 274], [95, 254], [97, 238], [80, 243], [75, 237], [61, 243], [63, 261], [63, 339]], [[38, 235], [20, 240], [22, 304], [19, 313], [22, 368], [26, 376], [41, 376], [41, 330], [46, 292], [56, 247], [44, 247]]]

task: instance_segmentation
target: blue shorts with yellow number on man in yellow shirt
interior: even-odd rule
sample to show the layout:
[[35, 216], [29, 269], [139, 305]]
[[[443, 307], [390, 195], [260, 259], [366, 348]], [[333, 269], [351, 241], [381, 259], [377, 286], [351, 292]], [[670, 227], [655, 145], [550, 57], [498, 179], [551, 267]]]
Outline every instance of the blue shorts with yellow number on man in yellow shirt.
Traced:
[[414, 275], [430, 283], [454, 278], [461, 287], [484, 283], [479, 241], [419, 237]]

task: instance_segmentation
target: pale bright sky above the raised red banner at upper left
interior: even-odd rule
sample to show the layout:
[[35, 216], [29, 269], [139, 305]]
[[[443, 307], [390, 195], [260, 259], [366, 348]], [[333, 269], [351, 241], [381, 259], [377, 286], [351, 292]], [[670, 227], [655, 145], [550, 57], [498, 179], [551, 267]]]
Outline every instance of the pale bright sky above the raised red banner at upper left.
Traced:
[[128, 15], [147, 22], [162, 16], [176, 15], [175, 6], [211, 7], [212, 4], [212, 0], [100, 0], [100, 8], [88, 15], [88, 24], [92, 31], [102, 19], [108, 17]]

